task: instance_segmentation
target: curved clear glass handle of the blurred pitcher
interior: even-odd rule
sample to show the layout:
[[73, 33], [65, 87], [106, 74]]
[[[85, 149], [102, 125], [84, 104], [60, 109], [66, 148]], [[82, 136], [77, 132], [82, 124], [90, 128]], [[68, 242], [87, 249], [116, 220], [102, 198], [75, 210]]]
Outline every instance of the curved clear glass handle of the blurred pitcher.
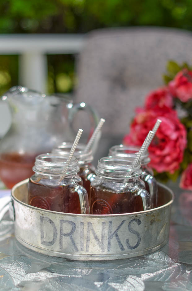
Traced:
[[[91, 128], [90, 128], [90, 132], [89, 132], [89, 138], [92, 135], [95, 127], [98, 125], [99, 122], [99, 115], [98, 113], [90, 106], [85, 104], [85, 102], [81, 102], [81, 103], [75, 103], [73, 104], [71, 110], [70, 110], [70, 114], [68, 117], [69, 123], [70, 125], [72, 125], [73, 119], [75, 117], [75, 114], [79, 111], [79, 110], [85, 110], [89, 113], [89, 117], [90, 117], [90, 124], [92, 124]], [[89, 140], [88, 138], [88, 140]]]

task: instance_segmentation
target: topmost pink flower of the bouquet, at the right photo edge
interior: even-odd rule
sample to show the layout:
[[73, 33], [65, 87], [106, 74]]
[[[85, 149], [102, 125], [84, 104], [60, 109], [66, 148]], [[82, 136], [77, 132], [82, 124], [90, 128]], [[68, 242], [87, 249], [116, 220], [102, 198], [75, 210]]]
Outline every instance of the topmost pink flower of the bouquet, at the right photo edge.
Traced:
[[169, 82], [169, 91], [182, 102], [192, 99], [192, 71], [183, 69]]

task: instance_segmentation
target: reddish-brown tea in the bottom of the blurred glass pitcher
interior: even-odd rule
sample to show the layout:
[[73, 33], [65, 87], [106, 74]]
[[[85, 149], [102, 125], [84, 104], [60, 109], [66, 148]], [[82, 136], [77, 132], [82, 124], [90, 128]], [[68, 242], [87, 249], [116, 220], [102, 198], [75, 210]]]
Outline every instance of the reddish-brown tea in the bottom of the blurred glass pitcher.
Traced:
[[33, 165], [37, 154], [18, 152], [0, 154], [0, 178], [7, 188], [33, 175]]

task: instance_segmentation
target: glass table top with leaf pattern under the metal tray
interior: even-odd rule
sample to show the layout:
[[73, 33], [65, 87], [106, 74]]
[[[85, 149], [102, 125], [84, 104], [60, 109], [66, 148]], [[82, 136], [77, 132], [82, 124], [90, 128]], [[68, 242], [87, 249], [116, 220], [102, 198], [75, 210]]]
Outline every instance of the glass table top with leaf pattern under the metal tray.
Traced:
[[5, 215], [0, 223], [0, 290], [191, 291], [192, 192], [173, 190], [176, 198], [168, 243], [133, 259], [71, 261], [41, 255], [17, 242], [14, 222]]

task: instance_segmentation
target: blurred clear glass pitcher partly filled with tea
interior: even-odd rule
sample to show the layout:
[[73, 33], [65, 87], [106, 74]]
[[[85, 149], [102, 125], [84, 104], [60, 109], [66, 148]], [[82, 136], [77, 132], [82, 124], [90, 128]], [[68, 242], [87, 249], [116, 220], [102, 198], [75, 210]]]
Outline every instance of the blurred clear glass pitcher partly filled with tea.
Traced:
[[78, 110], [90, 114], [91, 131], [99, 117], [84, 102], [46, 96], [22, 86], [11, 88], [1, 98], [11, 109], [12, 124], [0, 142], [0, 179], [12, 188], [33, 174], [35, 157], [63, 141], [74, 141], [72, 121]]

